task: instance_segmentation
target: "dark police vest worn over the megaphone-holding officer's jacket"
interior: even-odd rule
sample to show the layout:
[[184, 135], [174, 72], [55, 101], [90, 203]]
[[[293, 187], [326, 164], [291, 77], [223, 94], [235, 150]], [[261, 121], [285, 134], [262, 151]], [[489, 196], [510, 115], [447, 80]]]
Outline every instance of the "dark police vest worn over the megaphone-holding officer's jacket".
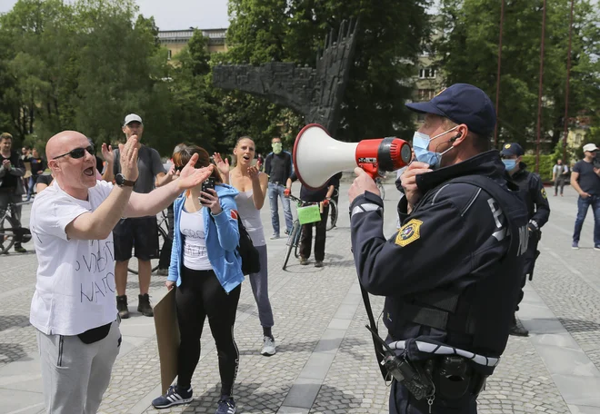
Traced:
[[[462, 290], [420, 292], [403, 297], [400, 301], [396, 298], [386, 301], [385, 307], [387, 311], [395, 313], [395, 318], [400, 322], [395, 326], [414, 322], [425, 327], [425, 330], [421, 329], [423, 335], [433, 333], [432, 329], [442, 330], [445, 331], [444, 342], [447, 345], [499, 357], [508, 340], [523, 275], [526, 240], [522, 239], [527, 238], [524, 195], [520, 191], [506, 191], [482, 175], [458, 177], [442, 185], [453, 182], [475, 185], [498, 203], [510, 231], [510, 246], [505, 257], [488, 277]], [[402, 336], [402, 332], [390, 330], [390, 333], [396, 338]]]

